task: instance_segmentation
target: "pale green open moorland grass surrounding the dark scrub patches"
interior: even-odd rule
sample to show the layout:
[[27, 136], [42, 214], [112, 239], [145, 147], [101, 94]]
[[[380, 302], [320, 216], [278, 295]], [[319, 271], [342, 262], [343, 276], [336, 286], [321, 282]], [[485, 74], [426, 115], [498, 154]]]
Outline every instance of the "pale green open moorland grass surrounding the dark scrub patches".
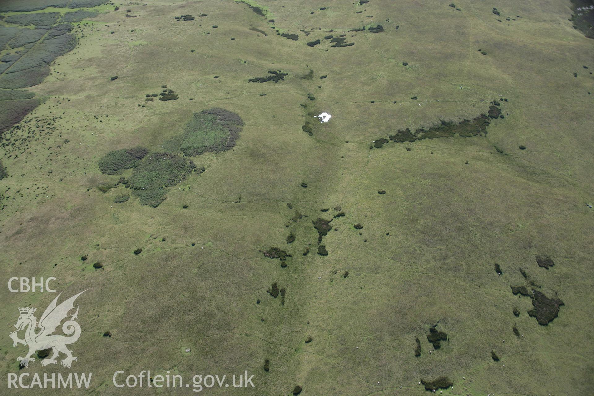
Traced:
[[[148, 368], [248, 370], [256, 388], [244, 393], [254, 395], [425, 395], [442, 385], [457, 395], [587, 394], [594, 41], [568, 20], [570, 2], [248, 3], [116, 2], [74, 23], [76, 47], [26, 88], [43, 103], [4, 134], [4, 278], [54, 276], [65, 296], [90, 289], [77, 300], [73, 370], [93, 372], [106, 395], [118, 394], [115, 370]], [[354, 44], [325, 39], [343, 34]], [[269, 70], [287, 75], [248, 82]], [[145, 100], [163, 85], [179, 98]], [[508, 99], [505, 118], [488, 134], [369, 148], [406, 128], [472, 120], [496, 98]], [[125, 199], [116, 183], [134, 169], [99, 169], [110, 151], [166, 152], [212, 108], [241, 117], [235, 146], [192, 158], [204, 172], [169, 187], [158, 207]], [[330, 122], [315, 118], [323, 111]], [[318, 217], [333, 219], [327, 255], [317, 254]], [[263, 254], [271, 247], [285, 260]], [[267, 293], [275, 283], [281, 299]], [[511, 292], [518, 285], [562, 301], [557, 317], [539, 324], [534, 299]], [[53, 299], [5, 287], [0, 297], [3, 334], [17, 307]], [[435, 351], [429, 328], [447, 334]], [[1, 375], [18, 372], [23, 348], [3, 337], [2, 351]]]

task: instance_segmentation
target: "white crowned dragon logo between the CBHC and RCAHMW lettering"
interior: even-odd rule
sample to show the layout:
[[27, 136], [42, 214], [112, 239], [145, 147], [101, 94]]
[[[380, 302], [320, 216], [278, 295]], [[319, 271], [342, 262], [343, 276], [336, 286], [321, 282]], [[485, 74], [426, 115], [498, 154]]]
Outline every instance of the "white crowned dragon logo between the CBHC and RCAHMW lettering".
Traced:
[[[74, 321], [74, 319], [77, 319], [78, 305], [74, 315], [62, 325], [62, 331], [65, 334], [68, 334], [68, 337], [62, 334], [52, 333], [56, 331], [56, 328], [60, 325], [62, 319], [68, 316], [68, 311], [74, 309], [74, 300], [84, 292], [86, 292], [86, 290], [70, 297], [60, 305], [57, 305], [56, 303], [58, 302], [58, 297], [61, 296], [62, 293], [58, 294], [58, 297], [53, 299], [52, 303], [50, 303], [45, 312], [43, 312], [43, 315], [41, 315], [41, 318], [39, 319], [40, 331], [37, 333], [35, 332], [38, 327], [37, 318], [33, 316], [35, 308], [23, 307], [18, 309], [20, 316], [18, 316], [17, 324], [14, 325], [14, 327], [17, 328], [17, 331], [12, 331], [9, 336], [12, 338], [13, 347], [17, 346], [17, 344], [29, 346], [29, 353], [27, 353], [25, 357], [17, 357], [17, 360], [21, 362], [21, 366], [29, 367], [29, 362], [35, 361], [33, 355], [36, 351], [49, 348], [52, 349], [53, 354], [42, 360], [42, 366], [56, 364], [56, 357], [59, 352], [66, 355], [65, 359], [62, 359], [61, 361], [62, 366], [64, 367], [70, 368], [72, 361], [78, 360], [77, 357], [72, 356], [72, 351], [68, 350], [66, 347], [67, 344], [75, 343], [78, 340], [78, 337], [80, 337], [80, 325]], [[27, 330], [25, 330], [24, 340], [21, 340], [18, 338], [17, 332], [24, 330], [26, 327]]]

